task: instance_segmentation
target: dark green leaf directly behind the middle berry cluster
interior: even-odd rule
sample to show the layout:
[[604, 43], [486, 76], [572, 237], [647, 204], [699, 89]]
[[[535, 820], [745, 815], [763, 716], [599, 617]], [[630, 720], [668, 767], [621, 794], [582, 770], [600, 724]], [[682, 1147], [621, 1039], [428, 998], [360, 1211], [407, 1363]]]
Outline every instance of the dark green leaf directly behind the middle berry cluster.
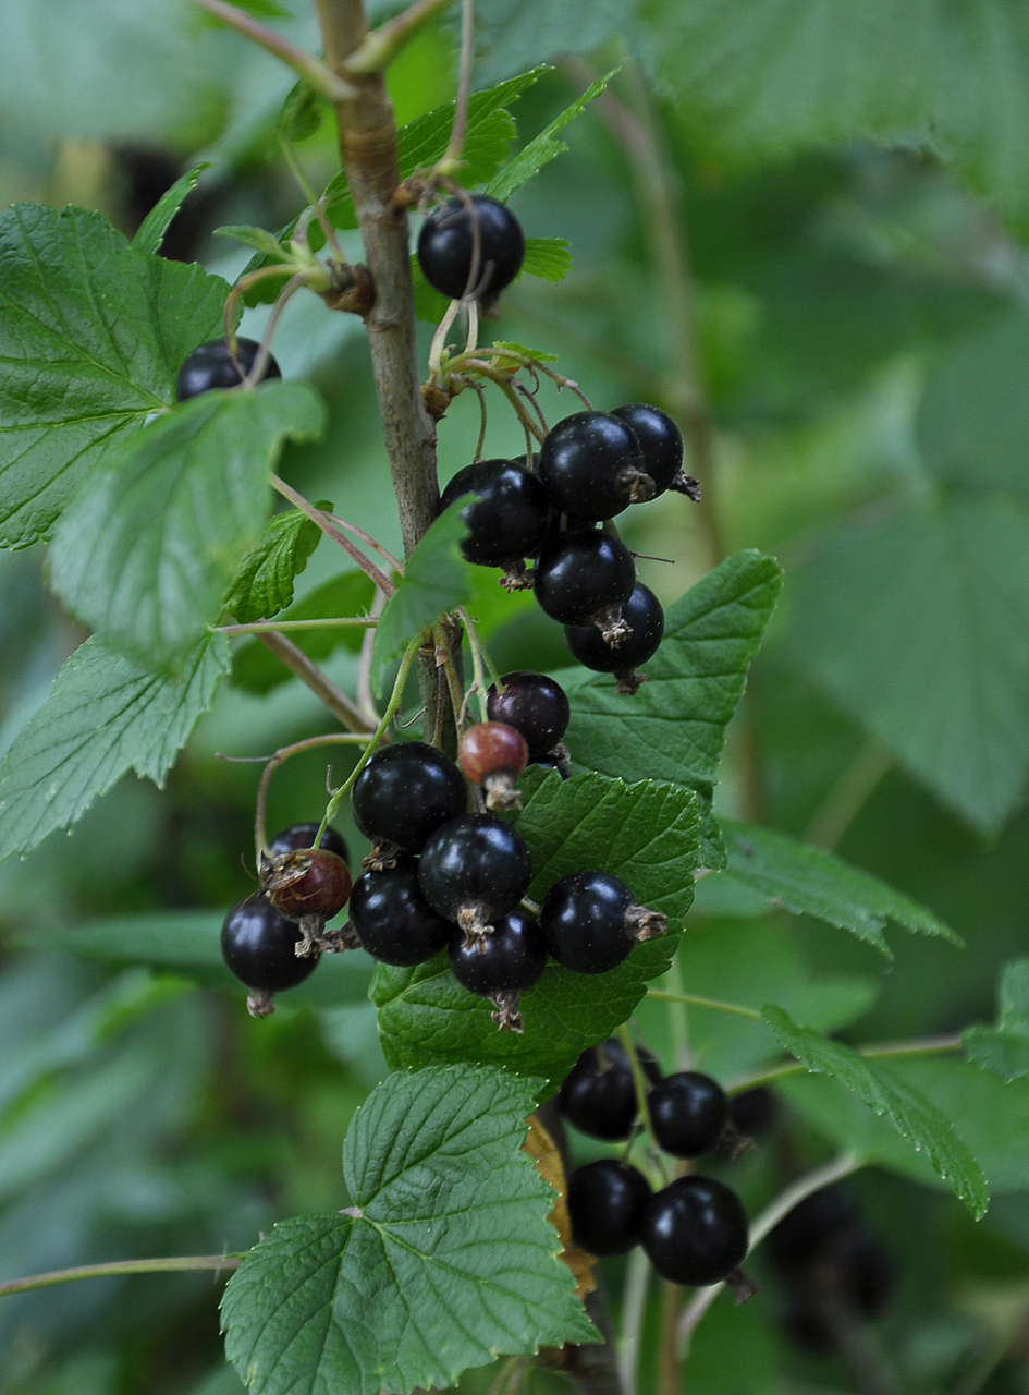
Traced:
[[572, 974], [548, 964], [521, 995], [524, 1034], [499, 1032], [492, 1004], [466, 992], [445, 954], [417, 968], [379, 964], [372, 1002], [390, 1067], [475, 1060], [558, 1084], [580, 1052], [633, 1011], [650, 979], [668, 970], [693, 896], [697, 801], [676, 785], [625, 784], [604, 776], [521, 777], [517, 829], [533, 855], [528, 894], [542, 900], [570, 872], [602, 866], [622, 877], [640, 905], [664, 911], [669, 933], [637, 944], [609, 974]]

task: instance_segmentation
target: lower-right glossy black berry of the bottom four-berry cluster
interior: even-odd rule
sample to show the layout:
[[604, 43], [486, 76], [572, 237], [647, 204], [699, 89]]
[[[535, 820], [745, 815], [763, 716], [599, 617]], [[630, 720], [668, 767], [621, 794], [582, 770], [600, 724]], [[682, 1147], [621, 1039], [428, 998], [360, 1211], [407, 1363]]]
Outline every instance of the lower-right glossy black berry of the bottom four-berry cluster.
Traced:
[[743, 1202], [712, 1177], [679, 1177], [654, 1193], [640, 1229], [650, 1262], [672, 1283], [718, 1283], [747, 1253]]

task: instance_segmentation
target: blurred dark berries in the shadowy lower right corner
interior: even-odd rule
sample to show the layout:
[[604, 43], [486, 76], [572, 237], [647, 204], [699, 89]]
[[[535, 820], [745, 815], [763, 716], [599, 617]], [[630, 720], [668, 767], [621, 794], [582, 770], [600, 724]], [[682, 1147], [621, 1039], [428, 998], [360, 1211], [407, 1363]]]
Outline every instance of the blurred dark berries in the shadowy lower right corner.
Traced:
[[890, 1256], [842, 1187], [806, 1197], [770, 1232], [765, 1253], [786, 1289], [786, 1332], [817, 1355], [845, 1348], [890, 1297]]

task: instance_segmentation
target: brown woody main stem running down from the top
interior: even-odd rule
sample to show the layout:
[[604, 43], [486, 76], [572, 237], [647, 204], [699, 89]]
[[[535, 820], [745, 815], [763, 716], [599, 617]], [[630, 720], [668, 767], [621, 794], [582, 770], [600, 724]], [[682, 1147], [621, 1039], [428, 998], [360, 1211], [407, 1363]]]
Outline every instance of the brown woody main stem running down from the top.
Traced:
[[[361, 0], [315, 0], [325, 61], [340, 73], [368, 33]], [[339, 149], [354, 199], [374, 286], [365, 318], [382, 439], [393, 477], [404, 555], [439, 512], [436, 432], [421, 400], [407, 213], [393, 206], [400, 176], [396, 121], [381, 73], [349, 78], [353, 99], [336, 106]], [[425, 727], [435, 725], [438, 682], [431, 658], [418, 663]]]

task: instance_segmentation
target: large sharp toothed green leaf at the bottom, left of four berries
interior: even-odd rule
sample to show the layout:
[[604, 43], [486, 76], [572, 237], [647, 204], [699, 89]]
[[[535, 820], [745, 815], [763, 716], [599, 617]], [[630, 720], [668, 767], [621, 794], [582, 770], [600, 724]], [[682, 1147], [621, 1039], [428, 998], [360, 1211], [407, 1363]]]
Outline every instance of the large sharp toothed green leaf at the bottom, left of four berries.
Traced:
[[456, 1066], [371, 1092], [343, 1145], [353, 1207], [282, 1222], [226, 1289], [226, 1352], [254, 1395], [404, 1395], [595, 1338], [521, 1147], [533, 1084]]

